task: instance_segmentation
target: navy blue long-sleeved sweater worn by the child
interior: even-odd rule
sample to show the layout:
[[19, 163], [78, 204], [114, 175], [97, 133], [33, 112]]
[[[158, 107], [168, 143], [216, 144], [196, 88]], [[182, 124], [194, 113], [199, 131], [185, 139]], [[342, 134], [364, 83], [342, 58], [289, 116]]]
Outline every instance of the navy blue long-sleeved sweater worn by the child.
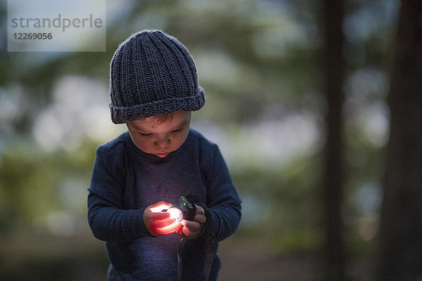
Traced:
[[[152, 237], [143, 223], [148, 205], [198, 195], [210, 209], [217, 241], [234, 233], [241, 219], [241, 200], [217, 145], [193, 129], [185, 143], [165, 158], [139, 150], [128, 132], [101, 145], [88, 190], [89, 226], [96, 238], [106, 242], [108, 280], [177, 277], [180, 237], [176, 233]], [[183, 280], [204, 280], [204, 248], [204, 235], [184, 242]], [[216, 256], [210, 280], [217, 280], [219, 268]]]

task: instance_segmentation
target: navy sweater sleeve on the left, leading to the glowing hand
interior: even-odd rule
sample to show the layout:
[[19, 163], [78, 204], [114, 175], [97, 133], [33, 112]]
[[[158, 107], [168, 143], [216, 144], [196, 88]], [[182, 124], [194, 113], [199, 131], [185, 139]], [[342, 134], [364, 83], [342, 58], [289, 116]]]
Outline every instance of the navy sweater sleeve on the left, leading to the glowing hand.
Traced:
[[122, 209], [124, 157], [107, 147], [96, 150], [88, 195], [88, 222], [93, 235], [107, 242], [126, 242], [150, 235], [143, 209]]

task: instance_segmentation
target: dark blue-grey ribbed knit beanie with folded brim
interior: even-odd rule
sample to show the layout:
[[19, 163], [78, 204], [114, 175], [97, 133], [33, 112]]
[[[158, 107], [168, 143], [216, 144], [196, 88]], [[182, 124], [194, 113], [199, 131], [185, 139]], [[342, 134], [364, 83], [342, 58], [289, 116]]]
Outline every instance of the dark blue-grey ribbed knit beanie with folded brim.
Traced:
[[115, 124], [196, 111], [205, 103], [188, 50], [158, 30], [133, 34], [117, 48], [110, 63], [110, 98]]

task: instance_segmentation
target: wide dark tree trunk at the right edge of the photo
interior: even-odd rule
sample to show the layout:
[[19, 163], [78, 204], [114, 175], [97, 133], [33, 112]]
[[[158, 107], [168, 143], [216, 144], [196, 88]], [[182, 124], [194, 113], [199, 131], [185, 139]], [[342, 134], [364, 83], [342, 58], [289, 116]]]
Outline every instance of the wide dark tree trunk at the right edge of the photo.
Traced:
[[422, 280], [422, 4], [402, 1], [376, 280]]

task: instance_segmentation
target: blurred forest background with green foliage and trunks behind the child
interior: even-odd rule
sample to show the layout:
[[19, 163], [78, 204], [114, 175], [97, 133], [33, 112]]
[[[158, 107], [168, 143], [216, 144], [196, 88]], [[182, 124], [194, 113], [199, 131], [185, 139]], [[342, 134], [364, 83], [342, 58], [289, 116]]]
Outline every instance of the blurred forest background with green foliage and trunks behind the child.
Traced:
[[243, 200], [222, 281], [422, 280], [418, 1], [108, 0], [92, 53], [7, 52], [0, 3], [1, 280], [105, 280], [87, 187], [96, 147], [126, 129], [110, 59], [142, 29], [193, 55], [207, 102], [192, 127]]

